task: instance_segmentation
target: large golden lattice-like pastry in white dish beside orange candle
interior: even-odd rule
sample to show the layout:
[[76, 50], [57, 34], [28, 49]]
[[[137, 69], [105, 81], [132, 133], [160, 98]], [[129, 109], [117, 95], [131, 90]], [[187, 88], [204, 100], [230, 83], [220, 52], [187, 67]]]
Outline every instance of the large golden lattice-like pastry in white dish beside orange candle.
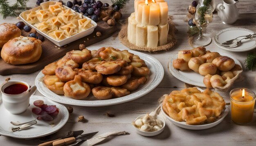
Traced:
[[206, 89], [200, 92], [196, 87], [172, 91], [162, 103], [164, 112], [176, 121], [190, 125], [215, 122], [225, 108], [225, 101], [218, 94]]

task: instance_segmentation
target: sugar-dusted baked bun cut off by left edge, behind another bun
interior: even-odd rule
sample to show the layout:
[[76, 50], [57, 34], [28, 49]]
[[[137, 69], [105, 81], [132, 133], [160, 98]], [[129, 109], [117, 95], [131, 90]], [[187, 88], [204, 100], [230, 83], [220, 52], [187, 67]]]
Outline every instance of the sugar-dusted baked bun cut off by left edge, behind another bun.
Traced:
[[4, 46], [12, 38], [19, 37], [21, 31], [15, 24], [3, 23], [0, 24], [0, 48]]

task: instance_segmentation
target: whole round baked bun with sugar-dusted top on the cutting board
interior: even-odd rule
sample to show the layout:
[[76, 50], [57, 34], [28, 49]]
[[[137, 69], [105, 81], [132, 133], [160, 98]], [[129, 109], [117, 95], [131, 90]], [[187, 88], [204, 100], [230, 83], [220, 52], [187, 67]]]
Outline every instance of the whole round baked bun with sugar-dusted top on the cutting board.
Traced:
[[30, 37], [17, 37], [2, 47], [2, 59], [13, 65], [28, 64], [39, 60], [42, 54], [41, 41]]

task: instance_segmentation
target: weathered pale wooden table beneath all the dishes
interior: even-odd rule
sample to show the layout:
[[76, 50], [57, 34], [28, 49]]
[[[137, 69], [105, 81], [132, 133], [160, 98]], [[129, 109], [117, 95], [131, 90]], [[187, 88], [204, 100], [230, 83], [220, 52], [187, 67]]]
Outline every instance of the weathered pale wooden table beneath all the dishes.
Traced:
[[[102, 0], [106, 2], [106, 0]], [[184, 22], [187, 14], [187, 7], [191, 4], [191, 0], [166, 0], [168, 1], [169, 6], [169, 15], [173, 15], [173, 21], [176, 24], [177, 31], [177, 44], [169, 51], [162, 51], [158, 53], [146, 53], [152, 55], [154, 58], [157, 58], [164, 67], [164, 79], [161, 84], [157, 88], [155, 88], [149, 94], [131, 102], [126, 102], [123, 104], [113, 105], [113, 106], [105, 106], [105, 107], [81, 107], [81, 106], [72, 106], [74, 108], [74, 112], [70, 114], [70, 118], [65, 124], [63, 128], [61, 128], [58, 133], [63, 133], [70, 130], [84, 130], [86, 133], [99, 131], [99, 134], [108, 132], [108, 131], [128, 131], [130, 135], [121, 135], [99, 145], [111, 145], [111, 146], [119, 146], [119, 145], [136, 145], [136, 146], [144, 146], [144, 145], [223, 145], [223, 146], [234, 146], [234, 145], [243, 145], [243, 146], [252, 146], [256, 145], [256, 114], [254, 114], [253, 122], [250, 124], [240, 126], [236, 125], [231, 121], [230, 112], [227, 117], [221, 122], [219, 125], [200, 131], [186, 130], [180, 127], [177, 127], [170, 122], [167, 122], [166, 128], [164, 132], [155, 136], [155, 137], [144, 137], [135, 132], [132, 128], [131, 122], [139, 115], [144, 113], [149, 113], [153, 111], [157, 106], [157, 100], [164, 94], [168, 94], [173, 90], [181, 90], [184, 88], [184, 82], [177, 80], [171, 73], [169, 73], [167, 69], [168, 59], [170, 55], [176, 54], [178, 50], [182, 49], [191, 49], [189, 46], [189, 41], [186, 37], [186, 31], [188, 28], [187, 22]], [[107, 2], [110, 3], [110, 0]], [[216, 5], [220, 3], [221, 0], [216, 0]], [[28, 2], [29, 7], [34, 7], [36, 4], [36, 0], [30, 0]], [[240, 12], [254, 12], [256, 11], [256, 1], [255, 0], [240, 0], [237, 3], [237, 7]], [[130, 13], [134, 11], [133, 9], [133, 0], [130, 0], [130, 3], [125, 9], [123, 13], [124, 17], [127, 18]], [[16, 18], [8, 17], [3, 20], [1, 18], [0, 22], [17, 22]], [[225, 25], [222, 24], [220, 18], [217, 13], [213, 14], [213, 22], [209, 24], [207, 27], [207, 32], [211, 38], [214, 35], [225, 28], [229, 27], [239, 27], [246, 28], [256, 32], [256, 14], [243, 14], [239, 16], [239, 19], [235, 24]], [[112, 46], [118, 49], [128, 49], [126, 46], [120, 43], [117, 35], [113, 35], [102, 42], [89, 46], [88, 48], [98, 49], [102, 46]], [[237, 87], [245, 87], [250, 88], [254, 92], [256, 91], [256, 72], [255, 71], [246, 71], [245, 65], [243, 64], [246, 55], [249, 52], [243, 53], [235, 53], [228, 52], [222, 50], [216, 46], [216, 44], [212, 41], [207, 47], [207, 50], [210, 51], [218, 51], [229, 53], [233, 55], [236, 59], [238, 59], [243, 65], [243, 76], [245, 79], [242, 82], [236, 83], [232, 88]], [[34, 85], [34, 80], [39, 71], [31, 74], [25, 75], [7, 75], [0, 76], [0, 82], [4, 82], [5, 78], [10, 77], [11, 80], [22, 80], [28, 82], [30, 85]], [[174, 88], [175, 87], [175, 88]], [[177, 88], [176, 88], [177, 87]], [[226, 102], [230, 102], [229, 100], [229, 92], [222, 93], [219, 92], [225, 99]], [[38, 91], [36, 95], [41, 95]], [[68, 106], [68, 105], [65, 105]], [[107, 117], [104, 115], [106, 111], [110, 111], [115, 117]], [[81, 123], [77, 122], [77, 118], [79, 115], [83, 115], [88, 122]], [[1, 117], [1, 120], [4, 117]], [[0, 145], [1, 146], [25, 146], [25, 145], [37, 145], [39, 144], [38, 139], [31, 140], [22, 140], [22, 139], [13, 139], [11, 137], [0, 136]], [[80, 144], [85, 145], [85, 143]]]

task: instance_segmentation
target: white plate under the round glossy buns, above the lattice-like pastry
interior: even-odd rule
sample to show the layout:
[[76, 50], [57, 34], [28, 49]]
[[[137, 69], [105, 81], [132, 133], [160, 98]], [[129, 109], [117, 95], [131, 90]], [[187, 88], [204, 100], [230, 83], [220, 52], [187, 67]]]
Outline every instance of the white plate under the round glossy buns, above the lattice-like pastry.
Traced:
[[[236, 64], [242, 66], [240, 62], [234, 58], [232, 55], [226, 54], [226, 53], [220, 53], [222, 56], [228, 56], [232, 58]], [[181, 71], [179, 69], [173, 68], [173, 60], [177, 59], [178, 55], [173, 55], [170, 58], [170, 61], [168, 63], [168, 69], [171, 72], [171, 74], [176, 77], [177, 79], [181, 80], [182, 82], [185, 82], [187, 84], [191, 84], [194, 86], [199, 87], [205, 87], [203, 80], [204, 76], [200, 75], [199, 73], [196, 73], [194, 71]]]

